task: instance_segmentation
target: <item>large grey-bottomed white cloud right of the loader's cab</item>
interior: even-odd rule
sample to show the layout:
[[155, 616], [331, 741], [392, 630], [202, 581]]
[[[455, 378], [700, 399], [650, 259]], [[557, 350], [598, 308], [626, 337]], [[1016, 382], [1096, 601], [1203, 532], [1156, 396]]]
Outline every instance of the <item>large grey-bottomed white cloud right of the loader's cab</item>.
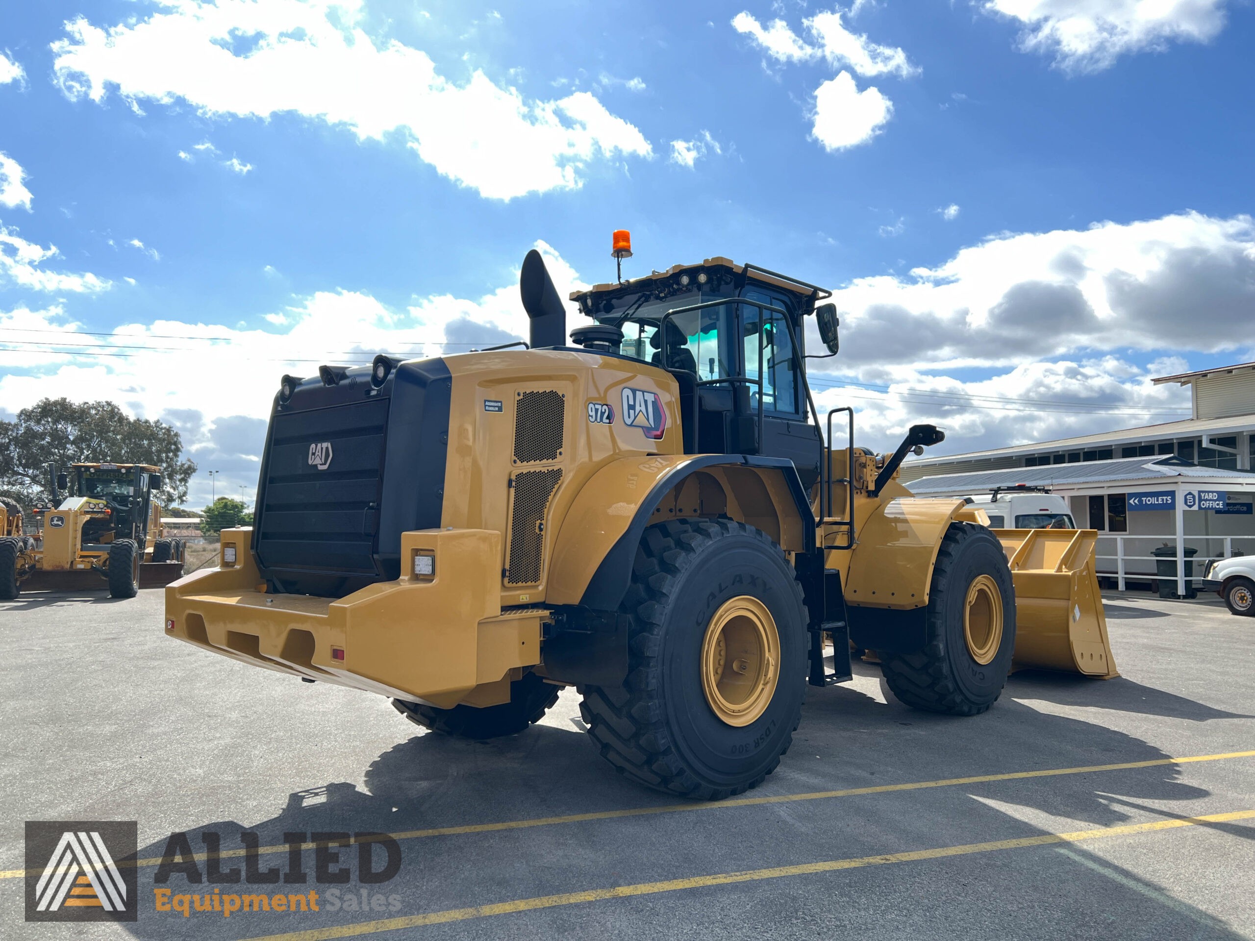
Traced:
[[1241, 349], [1255, 322], [1255, 222], [1185, 212], [1003, 233], [934, 268], [856, 279], [833, 300], [843, 368]]

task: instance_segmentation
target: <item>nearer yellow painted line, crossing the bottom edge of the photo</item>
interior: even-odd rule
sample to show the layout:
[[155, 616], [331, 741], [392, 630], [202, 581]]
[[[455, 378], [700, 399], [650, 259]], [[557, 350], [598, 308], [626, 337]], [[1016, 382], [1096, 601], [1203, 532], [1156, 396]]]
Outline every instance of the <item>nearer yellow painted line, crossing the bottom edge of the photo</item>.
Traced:
[[516, 912], [535, 911], [537, 908], [553, 908], [562, 905], [601, 902], [607, 898], [628, 898], [630, 896], [648, 896], [656, 895], [659, 892], [678, 892], [685, 888], [727, 886], [733, 882], [757, 882], [761, 880], [786, 878], [789, 876], [809, 876], [816, 872], [858, 869], [866, 866], [886, 866], [889, 863], [917, 862], [920, 859], [941, 859], [948, 856], [970, 856], [971, 853], [989, 853], [999, 849], [1019, 849], [1030, 846], [1048, 846], [1050, 843], [1078, 843], [1086, 839], [1102, 839], [1106, 837], [1121, 837], [1130, 833], [1150, 833], [1153, 831], [1178, 829], [1181, 827], [1192, 827], [1205, 823], [1245, 821], [1252, 817], [1255, 817], [1255, 811], [1232, 811], [1230, 813], [1212, 813], [1204, 817], [1152, 821], [1150, 823], [1131, 823], [1123, 827], [1099, 827], [1098, 829], [1082, 829], [1072, 833], [1044, 833], [1038, 837], [995, 839], [988, 843], [966, 843], [964, 846], [937, 847], [935, 849], [915, 849], [906, 853], [861, 856], [853, 859], [828, 859], [825, 862], [802, 863], [801, 866], [776, 866], [768, 869], [748, 869], [745, 872], [720, 872], [712, 876], [693, 876], [689, 878], [666, 880], [664, 882], [639, 882], [633, 886], [591, 888], [584, 892], [563, 892], [562, 895], [538, 896], [535, 898], [516, 898], [510, 902], [477, 905], [471, 908], [448, 908], [442, 912], [408, 915], [399, 918], [365, 921], [356, 925], [339, 925], [336, 927], [328, 928], [292, 931], [285, 935], [266, 935], [264, 937], [251, 938], [251, 941], [325, 941], [326, 938], [333, 937], [374, 935], [380, 931], [397, 931], [399, 928], [414, 928], [424, 925], [443, 925], [451, 921], [467, 921], [469, 918], [488, 918], [494, 915], [513, 915]]

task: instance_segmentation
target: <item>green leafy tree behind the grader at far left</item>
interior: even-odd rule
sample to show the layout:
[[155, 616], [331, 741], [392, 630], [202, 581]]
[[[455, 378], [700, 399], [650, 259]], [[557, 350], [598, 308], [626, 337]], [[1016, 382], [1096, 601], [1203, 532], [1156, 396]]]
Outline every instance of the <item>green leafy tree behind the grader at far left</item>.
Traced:
[[162, 422], [131, 418], [112, 401], [43, 399], [0, 420], [0, 489], [30, 504], [50, 499], [48, 465], [78, 460], [154, 464], [162, 469], [162, 506], [187, 499], [196, 464], [182, 459], [183, 442]]

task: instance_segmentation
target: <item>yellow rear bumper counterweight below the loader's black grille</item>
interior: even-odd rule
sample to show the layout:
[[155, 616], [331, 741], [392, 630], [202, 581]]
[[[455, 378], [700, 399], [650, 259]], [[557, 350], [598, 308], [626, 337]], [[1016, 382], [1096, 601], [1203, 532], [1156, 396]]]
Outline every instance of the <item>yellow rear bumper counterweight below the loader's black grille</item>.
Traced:
[[[166, 588], [166, 634], [255, 666], [448, 709], [477, 686], [494, 699], [512, 670], [540, 662], [545, 611], [501, 611], [501, 533], [402, 533], [403, 572], [432, 553], [435, 575], [403, 575], [343, 598], [271, 595], [248, 529], [222, 532], [238, 565]], [[499, 696], [498, 696], [499, 699]]]

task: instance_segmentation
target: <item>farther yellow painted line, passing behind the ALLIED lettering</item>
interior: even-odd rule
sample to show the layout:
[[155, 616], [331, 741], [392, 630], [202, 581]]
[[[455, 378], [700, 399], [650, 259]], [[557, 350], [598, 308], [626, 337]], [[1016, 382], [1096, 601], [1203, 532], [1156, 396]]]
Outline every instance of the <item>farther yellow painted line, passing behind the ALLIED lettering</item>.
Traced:
[[[622, 811], [592, 811], [590, 813], [572, 813], [563, 817], [533, 817], [525, 821], [499, 821], [497, 823], [469, 823], [462, 827], [433, 827], [430, 829], [410, 829], [400, 833], [387, 833], [383, 838], [392, 839], [422, 839], [424, 837], [451, 837], [463, 833], [491, 833], [503, 829], [526, 829], [528, 827], [552, 827], [560, 823], [582, 823], [586, 821], [611, 821], [620, 817], [645, 817], [656, 813], [684, 813], [689, 811], [722, 811], [728, 807], [756, 807], [758, 804], [788, 804], [797, 800], [825, 800], [836, 797], [857, 797], [860, 794], [885, 794], [892, 790], [924, 790], [926, 788], [951, 788], [959, 784], [985, 784], [995, 780], [1019, 780], [1023, 778], [1053, 778], [1063, 774], [1091, 774], [1094, 772], [1121, 772], [1132, 768], [1155, 768], [1165, 764], [1188, 764], [1192, 762], [1224, 762], [1231, 758], [1251, 758], [1251, 752], [1224, 752], [1214, 755], [1186, 755], [1183, 758], [1156, 758], [1150, 762], [1124, 762], [1121, 764], [1089, 764], [1079, 768], [1049, 768], [1038, 772], [1007, 772], [1003, 774], [978, 774], [970, 778], [943, 778], [940, 780], [916, 780], [905, 784], [878, 784], [870, 788], [846, 788], [845, 790], [814, 790], [802, 794], [776, 794], [769, 797], [740, 797], [730, 800], [693, 800], [686, 804], [663, 804], [660, 807], [629, 807]], [[365, 842], [365, 841], [364, 841]], [[312, 849], [315, 843], [302, 843], [302, 849]], [[287, 843], [276, 846], [264, 846], [257, 849], [259, 856], [265, 853], [286, 853]], [[245, 856], [245, 849], [223, 849], [220, 856], [230, 857]], [[205, 853], [195, 853], [198, 862], [205, 861]], [[157, 866], [161, 863], [159, 856], [147, 859], [118, 861], [118, 866]], [[0, 880], [18, 878], [25, 876], [25, 869], [0, 869]]]

